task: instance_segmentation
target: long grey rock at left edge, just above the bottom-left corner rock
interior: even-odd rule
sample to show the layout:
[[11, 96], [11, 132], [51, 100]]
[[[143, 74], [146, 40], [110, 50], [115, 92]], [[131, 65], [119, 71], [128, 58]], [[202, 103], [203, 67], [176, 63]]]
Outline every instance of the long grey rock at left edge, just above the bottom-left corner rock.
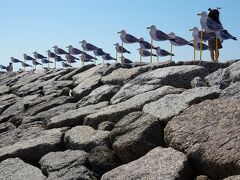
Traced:
[[26, 140], [2, 147], [0, 149], [0, 161], [19, 157], [25, 162], [36, 164], [43, 155], [62, 149], [64, 130], [45, 130], [29, 136]]

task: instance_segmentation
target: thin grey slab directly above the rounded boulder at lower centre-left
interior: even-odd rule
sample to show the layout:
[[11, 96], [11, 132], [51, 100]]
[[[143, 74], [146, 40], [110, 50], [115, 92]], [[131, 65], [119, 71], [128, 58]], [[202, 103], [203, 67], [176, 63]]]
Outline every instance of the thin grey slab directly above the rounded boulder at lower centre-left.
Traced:
[[94, 105], [85, 106], [82, 108], [78, 108], [75, 110], [67, 111], [66, 113], [62, 113], [58, 116], [52, 117], [47, 122], [48, 128], [56, 128], [56, 127], [73, 127], [77, 125], [82, 125], [84, 122], [84, 118], [92, 113], [97, 112], [99, 109], [108, 105], [108, 102], [101, 102]]

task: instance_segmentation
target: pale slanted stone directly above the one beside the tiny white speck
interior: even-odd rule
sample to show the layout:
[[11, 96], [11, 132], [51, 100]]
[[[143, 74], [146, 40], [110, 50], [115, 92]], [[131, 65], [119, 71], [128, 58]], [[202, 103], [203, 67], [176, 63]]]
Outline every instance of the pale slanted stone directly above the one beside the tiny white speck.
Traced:
[[102, 65], [97, 65], [94, 66], [86, 71], [83, 71], [79, 74], [76, 74], [75, 76], [73, 76], [73, 81], [74, 84], [78, 85], [79, 83], [82, 83], [83, 81], [85, 81], [86, 79], [89, 79], [92, 76], [97, 75], [98, 70], [102, 67]]

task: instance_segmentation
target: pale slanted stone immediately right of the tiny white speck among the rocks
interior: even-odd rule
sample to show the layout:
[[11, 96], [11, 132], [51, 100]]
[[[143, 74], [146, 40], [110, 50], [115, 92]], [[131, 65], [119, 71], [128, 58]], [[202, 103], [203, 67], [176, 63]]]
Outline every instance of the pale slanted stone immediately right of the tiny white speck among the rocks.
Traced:
[[89, 95], [95, 88], [100, 86], [101, 76], [91, 76], [80, 82], [77, 87], [73, 89], [73, 95], [75, 98], [81, 99], [84, 96]]

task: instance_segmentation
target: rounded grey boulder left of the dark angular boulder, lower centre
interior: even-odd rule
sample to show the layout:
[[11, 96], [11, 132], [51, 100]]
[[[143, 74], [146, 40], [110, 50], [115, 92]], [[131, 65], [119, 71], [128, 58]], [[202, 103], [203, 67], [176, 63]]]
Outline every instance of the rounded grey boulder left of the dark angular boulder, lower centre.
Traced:
[[67, 131], [64, 142], [69, 149], [80, 149], [90, 152], [96, 146], [108, 145], [108, 131], [94, 130], [89, 126], [76, 126]]

